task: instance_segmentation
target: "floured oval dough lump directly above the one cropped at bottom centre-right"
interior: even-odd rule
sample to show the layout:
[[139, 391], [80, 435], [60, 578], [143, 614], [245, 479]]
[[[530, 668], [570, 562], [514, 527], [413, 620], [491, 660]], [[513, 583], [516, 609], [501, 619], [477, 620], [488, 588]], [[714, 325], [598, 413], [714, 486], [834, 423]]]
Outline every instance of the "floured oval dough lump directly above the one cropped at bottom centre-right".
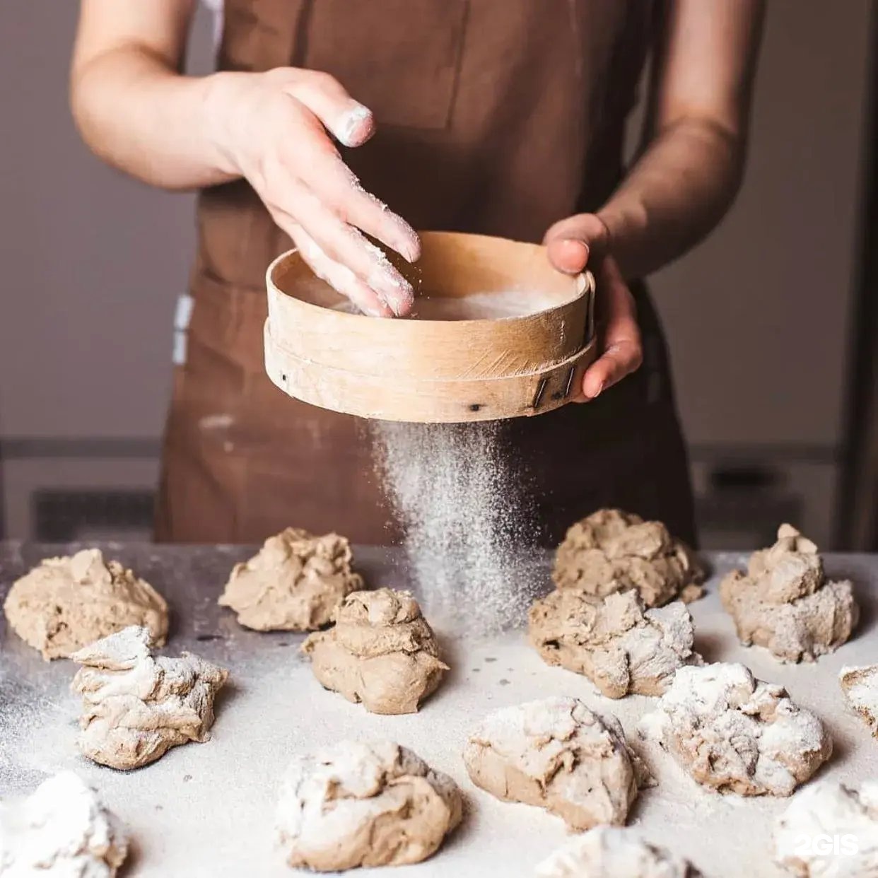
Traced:
[[477, 787], [545, 808], [578, 831], [624, 824], [638, 786], [651, 780], [615, 716], [575, 698], [495, 711], [470, 735], [464, 762]]

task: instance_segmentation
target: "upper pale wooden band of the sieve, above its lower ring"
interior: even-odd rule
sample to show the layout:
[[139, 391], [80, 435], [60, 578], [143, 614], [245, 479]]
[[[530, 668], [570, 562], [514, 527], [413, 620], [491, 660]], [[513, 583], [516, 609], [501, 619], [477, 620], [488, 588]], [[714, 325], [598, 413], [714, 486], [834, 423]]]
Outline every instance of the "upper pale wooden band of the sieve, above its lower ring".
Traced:
[[[297, 279], [311, 285], [319, 282], [291, 250], [278, 256], [266, 273], [272, 337], [284, 349], [313, 363], [391, 378], [400, 374], [493, 378], [524, 373], [560, 363], [582, 347], [594, 294], [590, 272], [561, 275], [551, 268], [544, 248], [535, 244], [448, 232], [425, 232], [421, 241], [422, 262], [432, 257], [434, 271], [444, 254], [457, 257], [458, 290], [468, 282], [467, 264], [481, 260], [502, 267], [498, 277], [473, 277], [471, 291], [492, 283], [502, 287], [527, 272], [533, 284], [551, 283], [564, 289], [566, 299], [543, 311], [499, 320], [378, 320], [300, 298]], [[441, 286], [443, 279], [425, 278], [423, 283]]]

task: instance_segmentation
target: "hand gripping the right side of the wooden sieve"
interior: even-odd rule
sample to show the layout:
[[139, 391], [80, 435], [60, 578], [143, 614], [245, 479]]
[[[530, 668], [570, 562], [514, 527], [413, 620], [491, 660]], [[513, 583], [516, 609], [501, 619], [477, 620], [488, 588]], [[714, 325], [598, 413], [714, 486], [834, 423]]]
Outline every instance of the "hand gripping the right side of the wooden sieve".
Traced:
[[594, 213], [562, 219], [543, 238], [549, 259], [559, 271], [579, 274], [588, 266], [597, 282], [595, 317], [601, 356], [582, 378], [576, 402], [594, 399], [637, 371], [643, 362], [637, 307], [619, 266], [608, 252], [607, 227]]

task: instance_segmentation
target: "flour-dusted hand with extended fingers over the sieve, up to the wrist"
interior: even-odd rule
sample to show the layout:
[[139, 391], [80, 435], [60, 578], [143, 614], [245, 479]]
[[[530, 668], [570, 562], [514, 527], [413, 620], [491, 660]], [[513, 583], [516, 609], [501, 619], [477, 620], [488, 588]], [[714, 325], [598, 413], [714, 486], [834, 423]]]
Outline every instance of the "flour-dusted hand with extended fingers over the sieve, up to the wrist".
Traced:
[[409, 262], [421, 241], [343, 162], [335, 140], [359, 147], [375, 131], [371, 111], [332, 76], [277, 68], [220, 73], [205, 103], [222, 169], [247, 178], [318, 277], [363, 313], [407, 313], [412, 286], [363, 232]]

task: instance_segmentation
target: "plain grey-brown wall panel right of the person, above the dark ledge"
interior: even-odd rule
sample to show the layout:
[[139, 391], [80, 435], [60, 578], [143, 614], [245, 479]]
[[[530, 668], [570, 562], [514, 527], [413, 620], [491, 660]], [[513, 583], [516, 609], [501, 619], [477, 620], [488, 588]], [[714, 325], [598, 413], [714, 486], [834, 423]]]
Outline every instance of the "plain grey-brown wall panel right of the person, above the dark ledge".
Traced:
[[655, 279], [694, 443], [838, 443], [872, 5], [769, 0], [744, 189]]

